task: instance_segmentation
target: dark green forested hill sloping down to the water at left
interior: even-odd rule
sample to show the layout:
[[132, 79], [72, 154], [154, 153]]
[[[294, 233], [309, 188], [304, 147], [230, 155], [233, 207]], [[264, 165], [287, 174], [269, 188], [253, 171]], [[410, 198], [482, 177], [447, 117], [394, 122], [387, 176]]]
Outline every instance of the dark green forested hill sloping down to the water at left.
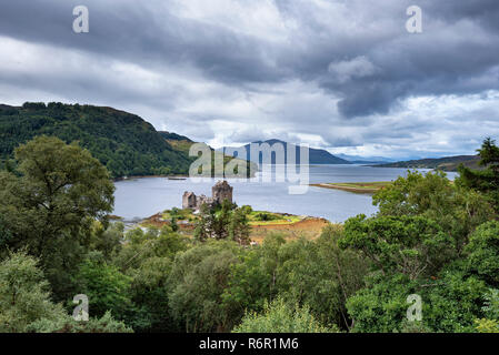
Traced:
[[136, 114], [79, 104], [0, 104], [0, 160], [11, 159], [19, 144], [40, 134], [79, 141], [113, 178], [186, 174], [192, 161]]

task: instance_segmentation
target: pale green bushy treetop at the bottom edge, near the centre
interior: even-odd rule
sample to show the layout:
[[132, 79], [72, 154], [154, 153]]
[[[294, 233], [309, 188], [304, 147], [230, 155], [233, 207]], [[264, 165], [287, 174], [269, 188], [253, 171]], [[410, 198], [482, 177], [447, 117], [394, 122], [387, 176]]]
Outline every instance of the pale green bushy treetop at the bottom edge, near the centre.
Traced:
[[305, 307], [289, 307], [285, 301], [277, 298], [266, 303], [263, 312], [248, 313], [234, 333], [337, 333], [338, 329], [321, 325]]

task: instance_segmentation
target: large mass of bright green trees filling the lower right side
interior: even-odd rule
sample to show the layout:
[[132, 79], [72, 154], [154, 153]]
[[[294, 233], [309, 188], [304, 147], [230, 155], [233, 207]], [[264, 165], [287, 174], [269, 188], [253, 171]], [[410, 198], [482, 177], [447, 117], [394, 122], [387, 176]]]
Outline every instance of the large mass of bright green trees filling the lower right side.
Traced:
[[[348, 220], [339, 241], [372, 261], [366, 287], [347, 300], [352, 331], [487, 328], [493, 317], [483, 318], [482, 295], [497, 285], [498, 252], [498, 226], [485, 223], [496, 217], [489, 199], [441, 172], [409, 172], [377, 192], [373, 204], [379, 213]], [[422, 298], [421, 322], [407, 321], [410, 294]]]

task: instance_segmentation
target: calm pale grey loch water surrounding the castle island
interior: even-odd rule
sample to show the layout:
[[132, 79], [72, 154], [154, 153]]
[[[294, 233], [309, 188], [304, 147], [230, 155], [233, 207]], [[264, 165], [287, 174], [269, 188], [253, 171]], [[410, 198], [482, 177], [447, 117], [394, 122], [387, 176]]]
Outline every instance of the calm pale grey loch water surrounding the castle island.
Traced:
[[[310, 183], [391, 181], [407, 174], [406, 169], [371, 168], [360, 165], [310, 165]], [[428, 170], [421, 170], [428, 171]], [[453, 179], [456, 173], [448, 173]], [[114, 214], [132, 220], [148, 217], [160, 211], [182, 206], [184, 191], [211, 196], [211, 186], [218, 181], [168, 180], [144, 178], [116, 183]], [[343, 222], [359, 213], [371, 215], [377, 211], [371, 195], [355, 194], [340, 190], [310, 186], [306, 194], [288, 193], [288, 182], [261, 182], [260, 176], [250, 181], [228, 180], [233, 186], [233, 199], [238, 205], [251, 205], [253, 210], [286, 212]]]

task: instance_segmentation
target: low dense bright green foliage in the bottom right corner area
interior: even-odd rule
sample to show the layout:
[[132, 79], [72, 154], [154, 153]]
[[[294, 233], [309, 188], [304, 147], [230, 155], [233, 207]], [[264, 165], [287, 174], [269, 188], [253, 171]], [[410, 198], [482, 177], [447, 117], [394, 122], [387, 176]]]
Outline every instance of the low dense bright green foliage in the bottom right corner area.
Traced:
[[422, 323], [426, 332], [472, 332], [480, 315], [485, 284], [457, 271], [446, 271], [438, 278], [410, 280], [403, 274], [372, 275], [368, 287], [347, 302], [355, 320], [353, 332], [408, 332], [407, 297], [422, 298]]

